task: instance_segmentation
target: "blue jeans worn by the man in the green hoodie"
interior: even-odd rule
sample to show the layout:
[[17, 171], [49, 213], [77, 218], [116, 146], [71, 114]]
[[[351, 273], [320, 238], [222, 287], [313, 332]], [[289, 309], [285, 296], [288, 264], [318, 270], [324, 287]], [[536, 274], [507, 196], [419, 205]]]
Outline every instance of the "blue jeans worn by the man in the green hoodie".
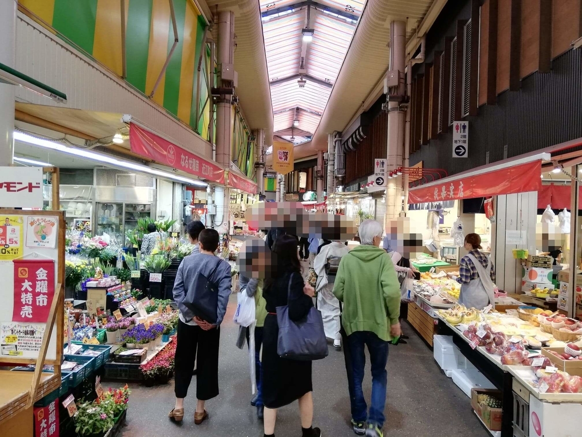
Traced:
[[347, 337], [350, 351], [352, 353], [352, 371], [354, 394], [352, 401], [352, 418], [356, 422], [364, 422], [367, 417], [367, 404], [362, 390], [364, 380], [365, 353], [364, 345], [368, 347], [370, 353], [370, 364], [372, 365], [372, 402], [370, 406], [370, 416], [368, 423], [384, 426], [384, 407], [386, 405], [386, 362], [388, 361], [388, 341], [380, 340], [372, 332], [354, 332]]

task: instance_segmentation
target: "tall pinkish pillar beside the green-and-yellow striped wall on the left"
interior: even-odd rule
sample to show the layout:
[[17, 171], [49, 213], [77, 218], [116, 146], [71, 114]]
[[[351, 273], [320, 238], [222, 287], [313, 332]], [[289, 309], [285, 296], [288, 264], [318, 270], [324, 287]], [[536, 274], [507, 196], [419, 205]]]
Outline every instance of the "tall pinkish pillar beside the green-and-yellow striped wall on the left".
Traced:
[[[217, 64], [219, 68], [223, 65], [234, 62], [234, 27], [235, 14], [230, 11], [218, 14], [218, 51]], [[219, 87], [232, 87], [232, 81], [221, 80]], [[232, 129], [230, 128], [232, 96], [223, 94], [218, 99], [217, 104], [217, 152], [216, 160], [218, 164], [225, 168], [230, 167], [230, 144], [232, 141]]]

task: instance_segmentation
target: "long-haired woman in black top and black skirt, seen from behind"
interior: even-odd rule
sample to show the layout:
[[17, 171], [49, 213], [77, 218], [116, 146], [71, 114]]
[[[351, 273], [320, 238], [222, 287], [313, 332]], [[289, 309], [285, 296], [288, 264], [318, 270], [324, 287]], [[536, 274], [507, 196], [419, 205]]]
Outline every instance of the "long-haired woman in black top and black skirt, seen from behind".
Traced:
[[311, 361], [288, 360], [277, 354], [279, 325], [276, 308], [289, 305], [289, 318], [301, 320], [313, 306], [314, 290], [303, 282], [296, 237], [281, 235], [273, 245], [273, 252], [275, 272], [265, 281], [263, 292], [268, 312], [263, 328], [262, 350], [265, 437], [275, 435], [277, 409], [296, 400], [299, 400], [303, 437], [320, 437], [320, 429], [311, 427], [313, 420]]

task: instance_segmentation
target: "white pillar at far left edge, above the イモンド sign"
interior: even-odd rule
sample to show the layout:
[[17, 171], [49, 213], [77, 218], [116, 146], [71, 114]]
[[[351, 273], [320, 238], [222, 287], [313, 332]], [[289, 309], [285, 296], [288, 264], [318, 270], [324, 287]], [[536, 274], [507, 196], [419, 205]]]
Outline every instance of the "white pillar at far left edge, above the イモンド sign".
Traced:
[[[17, 0], [0, 1], [0, 63], [15, 68]], [[0, 167], [14, 154], [15, 86], [0, 83]]]

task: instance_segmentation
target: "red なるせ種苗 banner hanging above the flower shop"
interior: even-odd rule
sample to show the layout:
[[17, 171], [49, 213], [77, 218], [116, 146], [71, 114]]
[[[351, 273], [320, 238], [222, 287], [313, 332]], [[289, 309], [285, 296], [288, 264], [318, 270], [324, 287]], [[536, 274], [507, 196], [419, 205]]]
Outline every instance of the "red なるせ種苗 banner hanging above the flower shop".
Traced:
[[173, 145], [134, 123], [129, 124], [129, 144], [133, 153], [208, 181], [224, 184], [224, 170], [217, 164]]

